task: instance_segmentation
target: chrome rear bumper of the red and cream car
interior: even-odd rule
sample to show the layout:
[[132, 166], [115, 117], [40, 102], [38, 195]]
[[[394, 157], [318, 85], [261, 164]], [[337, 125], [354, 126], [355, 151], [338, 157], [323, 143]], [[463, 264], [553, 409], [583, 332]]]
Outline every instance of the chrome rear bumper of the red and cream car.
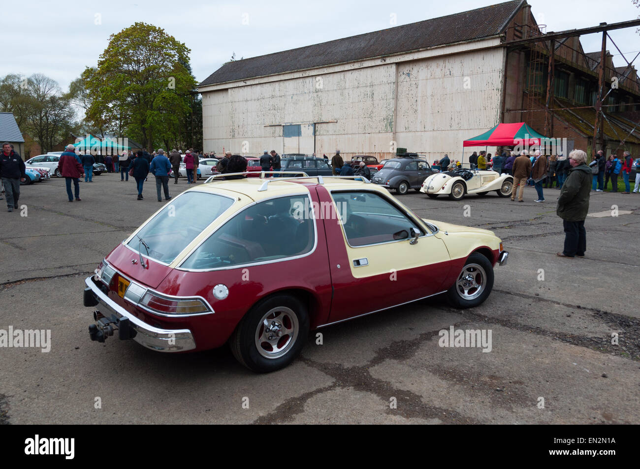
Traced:
[[[87, 277], [84, 283], [86, 284], [84, 306], [96, 308], [100, 315], [111, 320], [111, 324], [116, 328], [118, 328], [120, 321], [122, 321], [123, 327], [126, 324], [127, 331], [120, 330], [120, 338], [131, 337], [141, 346], [159, 352], [184, 352], [195, 349], [196, 342], [190, 330], [159, 329], [150, 326], [110, 299], [100, 290], [100, 287], [93, 280], [93, 276]], [[97, 321], [96, 324], [101, 328], [104, 326], [104, 321], [102, 324]]]

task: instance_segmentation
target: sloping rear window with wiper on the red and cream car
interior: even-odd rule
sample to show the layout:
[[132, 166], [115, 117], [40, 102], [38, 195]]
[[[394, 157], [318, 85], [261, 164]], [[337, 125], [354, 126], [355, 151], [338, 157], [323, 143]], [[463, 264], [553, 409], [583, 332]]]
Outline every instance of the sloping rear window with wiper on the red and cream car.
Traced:
[[[149, 246], [148, 257], [170, 264], [189, 242], [233, 202], [229, 197], [196, 191], [175, 198], [138, 232], [138, 236]], [[138, 236], [133, 237], [127, 246], [147, 255]]]

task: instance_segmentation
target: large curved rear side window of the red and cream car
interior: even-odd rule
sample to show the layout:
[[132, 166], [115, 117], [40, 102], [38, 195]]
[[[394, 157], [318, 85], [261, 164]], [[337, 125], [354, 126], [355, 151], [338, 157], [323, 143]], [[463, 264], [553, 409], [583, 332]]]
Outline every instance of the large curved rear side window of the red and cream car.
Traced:
[[180, 267], [218, 269], [306, 254], [316, 242], [311, 206], [303, 195], [256, 203], [218, 228]]

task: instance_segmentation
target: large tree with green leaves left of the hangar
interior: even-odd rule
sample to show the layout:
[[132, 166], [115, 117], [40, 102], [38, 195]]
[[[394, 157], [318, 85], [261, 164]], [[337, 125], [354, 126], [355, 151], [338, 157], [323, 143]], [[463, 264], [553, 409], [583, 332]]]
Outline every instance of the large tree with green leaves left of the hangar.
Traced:
[[98, 66], [82, 75], [87, 118], [148, 148], [175, 139], [196, 87], [189, 52], [164, 29], [143, 22], [111, 35]]

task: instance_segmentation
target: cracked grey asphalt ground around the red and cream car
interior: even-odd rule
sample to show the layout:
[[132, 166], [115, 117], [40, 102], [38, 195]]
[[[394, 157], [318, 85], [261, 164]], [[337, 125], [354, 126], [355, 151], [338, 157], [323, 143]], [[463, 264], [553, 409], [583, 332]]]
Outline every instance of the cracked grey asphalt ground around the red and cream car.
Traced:
[[[26, 213], [0, 202], [0, 330], [51, 330], [49, 353], [0, 348], [1, 422], [640, 423], [640, 195], [591, 193], [589, 212], [602, 216], [587, 219], [586, 258], [575, 259], [556, 257], [557, 189], [545, 203], [532, 187], [525, 203], [400, 196], [424, 218], [504, 240], [509, 261], [487, 301], [456, 310], [431, 298], [336, 324], [322, 345], [313, 333], [292, 365], [261, 375], [228, 347], [163, 354], [91, 342], [84, 278], [161, 206], [152, 179], [142, 201], [132, 179], [93, 181], [81, 182], [82, 202], [67, 202], [60, 179], [23, 186]], [[438, 346], [451, 326], [492, 331], [492, 350]]]

